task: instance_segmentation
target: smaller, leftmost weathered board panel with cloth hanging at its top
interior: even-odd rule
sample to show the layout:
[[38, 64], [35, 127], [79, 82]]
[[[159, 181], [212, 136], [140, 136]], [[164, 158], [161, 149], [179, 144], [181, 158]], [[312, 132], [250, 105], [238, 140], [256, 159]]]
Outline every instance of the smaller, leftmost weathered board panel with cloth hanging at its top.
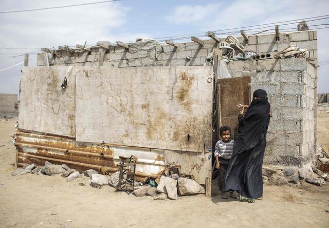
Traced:
[[21, 77], [20, 128], [75, 137], [75, 73], [61, 83], [67, 66], [24, 67]]

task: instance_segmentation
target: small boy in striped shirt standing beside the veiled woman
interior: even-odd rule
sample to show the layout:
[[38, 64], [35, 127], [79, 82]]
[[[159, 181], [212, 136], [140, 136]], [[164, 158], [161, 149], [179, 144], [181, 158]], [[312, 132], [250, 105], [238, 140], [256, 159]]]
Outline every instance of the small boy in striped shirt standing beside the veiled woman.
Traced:
[[[233, 153], [234, 141], [230, 139], [231, 128], [228, 126], [222, 126], [220, 128], [220, 135], [222, 140], [216, 143], [214, 156], [216, 159], [216, 169], [220, 169], [218, 174], [218, 185], [220, 186], [220, 191], [222, 191], [225, 172]], [[230, 197], [236, 198], [233, 193], [234, 192], [230, 192]], [[222, 191], [222, 198], [227, 199], [226, 192]]]

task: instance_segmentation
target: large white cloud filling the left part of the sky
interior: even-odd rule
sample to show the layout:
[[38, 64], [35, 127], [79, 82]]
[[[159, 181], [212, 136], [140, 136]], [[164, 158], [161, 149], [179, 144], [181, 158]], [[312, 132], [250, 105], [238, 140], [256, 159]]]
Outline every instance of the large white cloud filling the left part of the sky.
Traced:
[[[1, 11], [65, 6], [93, 1], [58, 0], [16, 1], [3, 0]], [[59, 45], [96, 44], [100, 40], [131, 41], [137, 37], [151, 37], [145, 33], [134, 33], [125, 28], [127, 14], [131, 11], [121, 2], [104, 3], [61, 9], [0, 14], [0, 47], [57, 47]], [[0, 69], [22, 62], [26, 51], [37, 49], [1, 49]], [[8, 53], [8, 54], [7, 54]], [[36, 55], [30, 55], [29, 66], [36, 64]], [[0, 93], [17, 93], [22, 65], [0, 72]]]

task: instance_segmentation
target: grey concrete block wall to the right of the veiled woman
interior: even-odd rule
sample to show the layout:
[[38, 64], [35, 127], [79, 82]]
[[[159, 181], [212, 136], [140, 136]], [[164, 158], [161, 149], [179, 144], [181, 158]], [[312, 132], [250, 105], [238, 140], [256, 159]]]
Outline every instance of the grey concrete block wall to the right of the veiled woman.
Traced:
[[303, 166], [316, 143], [316, 68], [305, 58], [231, 61], [233, 77], [251, 76], [252, 90], [266, 90], [272, 117], [265, 164]]

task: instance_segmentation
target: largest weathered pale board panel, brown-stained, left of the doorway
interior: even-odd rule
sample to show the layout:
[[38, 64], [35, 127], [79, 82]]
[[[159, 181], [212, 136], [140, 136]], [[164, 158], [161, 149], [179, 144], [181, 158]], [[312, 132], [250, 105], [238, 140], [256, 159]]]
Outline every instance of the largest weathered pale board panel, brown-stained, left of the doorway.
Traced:
[[194, 152], [211, 148], [209, 66], [90, 68], [88, 76], [78, 75], [77, 141]]

